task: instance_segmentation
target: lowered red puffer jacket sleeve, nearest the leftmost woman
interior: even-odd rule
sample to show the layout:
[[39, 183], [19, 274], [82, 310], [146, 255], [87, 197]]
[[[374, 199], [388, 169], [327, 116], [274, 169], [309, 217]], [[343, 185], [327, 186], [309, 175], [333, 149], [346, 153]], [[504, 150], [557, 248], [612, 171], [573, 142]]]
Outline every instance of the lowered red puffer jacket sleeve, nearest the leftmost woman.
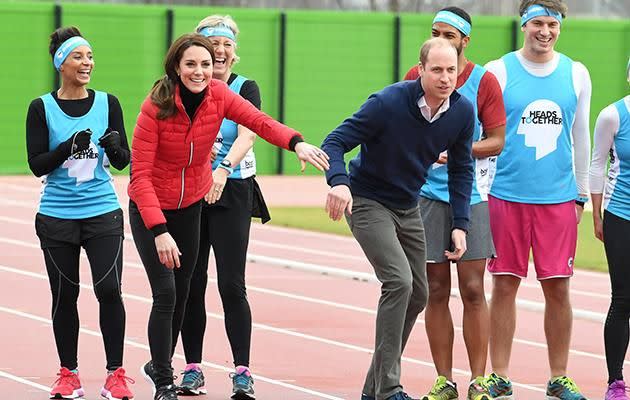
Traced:
[[131, 142], [129, 198], [138, 206], [144, 225], [151, 229], [166, 218], [153, 187], [153, 164], [159, 141], [157, 107], [148, 97], [142, 103]]

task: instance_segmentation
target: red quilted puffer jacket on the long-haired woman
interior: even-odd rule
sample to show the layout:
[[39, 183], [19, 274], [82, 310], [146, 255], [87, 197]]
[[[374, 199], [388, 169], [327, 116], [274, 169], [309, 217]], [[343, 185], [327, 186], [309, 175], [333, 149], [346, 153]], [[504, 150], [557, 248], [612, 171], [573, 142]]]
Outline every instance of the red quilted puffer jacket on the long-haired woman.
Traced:
[[148, 229], [166, 223], [162, 210], [188, 207], [208, 192], [212, 185], [210, 151], [223, 118], [284, 149], [288, 149], [291, 138], [300, 135], [258, 111], [216, 79], [208, 86], [192, 122], [184, 110], [179, 87], [175, 104], [177, 114], [158, 120], [158, 107], [147, 97], [133, 132], [128, 193]]

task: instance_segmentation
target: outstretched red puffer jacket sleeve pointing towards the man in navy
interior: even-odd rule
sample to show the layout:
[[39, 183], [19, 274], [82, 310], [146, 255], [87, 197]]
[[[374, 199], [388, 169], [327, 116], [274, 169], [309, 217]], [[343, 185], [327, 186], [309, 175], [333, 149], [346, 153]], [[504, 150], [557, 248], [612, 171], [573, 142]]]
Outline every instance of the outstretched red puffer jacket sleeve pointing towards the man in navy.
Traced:
[[289, 149], [289, 142], [293, 137], [302, 137], [296, 130], [259, 111], [249, 101], [232, 92], [225, 83], [217, 82], [215, 84], [214, 82], [213, 79], [213, 96], [223, 98], [225, 107], [223, 113], [226, 118], [249, 128], [269, 143], [283, 149]]

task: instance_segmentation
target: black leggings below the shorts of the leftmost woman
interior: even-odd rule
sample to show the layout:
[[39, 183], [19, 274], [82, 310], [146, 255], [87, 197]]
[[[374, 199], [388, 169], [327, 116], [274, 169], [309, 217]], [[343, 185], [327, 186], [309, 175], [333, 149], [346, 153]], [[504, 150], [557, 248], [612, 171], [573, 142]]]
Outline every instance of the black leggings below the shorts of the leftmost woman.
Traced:
[[[122, 366], [125, 338], [125, 308], [120, 281], [122, 276], [122, 236], [105, 236], [87, 240], [83, 248], [92, 271], [94, 292], [99, 304], [99, 322], [107, 369]], [[52, 291], [52, 321], [61, 366], [77, 368], [79, 339], [79, 255], [81, 247], [47, 247], [43, 249]]]

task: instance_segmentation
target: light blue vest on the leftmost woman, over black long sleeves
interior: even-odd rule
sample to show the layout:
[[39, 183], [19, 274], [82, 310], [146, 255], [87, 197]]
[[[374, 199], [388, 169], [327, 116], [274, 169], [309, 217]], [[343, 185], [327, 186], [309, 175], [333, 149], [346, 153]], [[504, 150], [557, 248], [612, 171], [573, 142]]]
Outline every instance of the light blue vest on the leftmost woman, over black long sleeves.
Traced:
[[120, 208], [109, 173], [109, 160], [98, 139], [109, 125], [107, 93], [95, 92], [94, 104], [81, 117], [64, 113], [48, 93], [44, 102], [48, 125], [48, 148], [53, 150], [75, 132], [91, 129], [90, 147], [68, 157], [61, 166], [43, 178], [39, 212], [56, 218], [82, 219]]

